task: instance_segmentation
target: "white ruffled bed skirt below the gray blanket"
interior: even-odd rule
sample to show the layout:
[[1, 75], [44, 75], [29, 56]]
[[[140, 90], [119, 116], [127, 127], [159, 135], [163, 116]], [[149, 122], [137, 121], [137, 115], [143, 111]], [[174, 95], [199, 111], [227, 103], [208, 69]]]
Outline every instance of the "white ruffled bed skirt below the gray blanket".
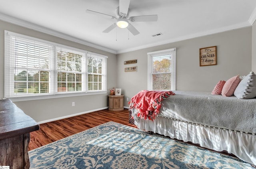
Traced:
[[135, 120], [135, 124], [140, 130], [152, 131], [185, 142], [191, 141], [216, 151], [226, 150], [228, 153], [256, 165], [256, 135], [254, 134], [204, 126], [161, 116], [157, 116], [154, 121], [138, 118]]

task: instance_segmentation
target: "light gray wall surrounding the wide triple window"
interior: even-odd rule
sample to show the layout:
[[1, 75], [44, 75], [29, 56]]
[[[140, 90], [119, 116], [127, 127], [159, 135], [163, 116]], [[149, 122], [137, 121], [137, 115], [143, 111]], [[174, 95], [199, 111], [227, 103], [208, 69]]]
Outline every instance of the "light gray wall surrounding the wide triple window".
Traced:
[[[34, 31], [31, 29], [23, 28], [14, 24], [0, 21], [0, 98], [4, 98], [4, 30], [21, 33], [24, 35], [92, 51], [102, 55], [108, 56], [107, 59], [107, 88], [116, 86], [116, 70], [113, 67], [116, 66], [116, 55], [81, 45], [72, 41], [54, 37], [45, 33]], [[52, 98], [44, 100], [32, 100], [14, 102], [20, 107], [26, 114], [32, 117], [37, 122], [60, 118], [63, 116], [70, 116], [81, 112], [88, 112], [91, 110], [97, 110], [106, 108], [108, 106], [108, 94], [96, 94], [88, 96], [76, 96], [65, 98]], [[72, 107], [72, 102], [75, 102], [75, 107]]]

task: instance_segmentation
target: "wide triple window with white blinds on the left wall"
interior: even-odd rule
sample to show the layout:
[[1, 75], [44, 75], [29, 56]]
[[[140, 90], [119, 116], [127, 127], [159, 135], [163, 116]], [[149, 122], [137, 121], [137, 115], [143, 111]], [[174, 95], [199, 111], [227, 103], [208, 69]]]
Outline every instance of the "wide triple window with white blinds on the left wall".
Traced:
[[106, 59], [5, 31], [5, 98], [106, 92]]

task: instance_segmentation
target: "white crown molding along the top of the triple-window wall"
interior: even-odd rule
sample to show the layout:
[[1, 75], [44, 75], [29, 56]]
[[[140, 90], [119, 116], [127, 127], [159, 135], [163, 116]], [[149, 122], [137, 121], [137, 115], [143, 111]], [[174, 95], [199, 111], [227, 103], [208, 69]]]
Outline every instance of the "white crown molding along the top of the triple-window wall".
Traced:
[[100, 49], [102, 51], [106, 51], [106, 52], [116, 54], [115, 50], [108, 49], [106, 47], [102, 47], [100, 45], [96, 45], [94, 43], [90, 43], [88, 41], [84, 41], [82, 39], [78, 39], [78, 38], [72, 37], [70, 35], [66, 35], [64, 33], [60, 33], [58, 31], [54, 31], [52, 29], [48, 29], [48, 28], [45, 28], [43, 26], [39, 26], [39, 25], [33, 24], [31, 22], [20, 20], [18, 18], [7, 16], [7, 15], [1, 14], [1, 13], [0, 13], [0, 20], [2, 20], [4, 22], [9, 22], [11, 24], [15, 24], [15, 25], [18, 25], [18, 26], [22, 26], [22, 27], [25, 27], [25, 28], [28, 28], [28, 29], [33, 29], [35, 31], [39, 31], [39, 32], [46, 33], [46, 34], [49, 34], [49, 35], [53, 35], [53, 36], [56, 36], [56, 37], [60, 37], [62, 39], [66, 39], [66, 40], [69, 40], [69, 41], [80, 43], [82, 45], [86, 45], [86, 46], [89, 46], [89, 47], [94, 47], [94, 48]]

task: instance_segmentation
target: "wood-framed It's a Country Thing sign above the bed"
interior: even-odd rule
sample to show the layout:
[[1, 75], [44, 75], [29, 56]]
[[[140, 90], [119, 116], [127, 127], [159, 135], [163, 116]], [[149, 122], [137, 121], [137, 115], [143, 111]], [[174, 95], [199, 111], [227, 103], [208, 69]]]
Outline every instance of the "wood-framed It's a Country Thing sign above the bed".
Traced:
[[200, 66], [217, 65], [216, 46], [199, 49]]

